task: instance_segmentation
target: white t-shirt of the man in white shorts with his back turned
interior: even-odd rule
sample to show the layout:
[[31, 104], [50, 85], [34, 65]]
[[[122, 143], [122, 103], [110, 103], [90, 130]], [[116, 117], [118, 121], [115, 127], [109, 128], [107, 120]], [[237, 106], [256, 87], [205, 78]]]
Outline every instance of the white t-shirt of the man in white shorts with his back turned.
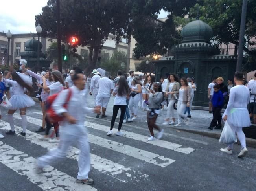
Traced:
[[109, 78], [102, 77], [98, 80], [97, 87], [99, 87], [97, 97], [110, 97], [110, 90], [114, 89], [114, 84]]

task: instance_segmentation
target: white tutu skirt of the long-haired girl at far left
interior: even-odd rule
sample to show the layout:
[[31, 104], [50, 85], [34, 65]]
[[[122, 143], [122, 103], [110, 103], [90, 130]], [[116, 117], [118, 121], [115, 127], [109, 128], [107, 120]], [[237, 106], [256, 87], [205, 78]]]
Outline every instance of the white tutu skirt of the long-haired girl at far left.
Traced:
[[14, 94], [13, 96], [11, 96], [11, 99], [9, 99], [9, 101], [12, 105], [12, 107], [9, 109], [13, 110], [31, 107], [35, 105], [35, 101], [26, 94]]

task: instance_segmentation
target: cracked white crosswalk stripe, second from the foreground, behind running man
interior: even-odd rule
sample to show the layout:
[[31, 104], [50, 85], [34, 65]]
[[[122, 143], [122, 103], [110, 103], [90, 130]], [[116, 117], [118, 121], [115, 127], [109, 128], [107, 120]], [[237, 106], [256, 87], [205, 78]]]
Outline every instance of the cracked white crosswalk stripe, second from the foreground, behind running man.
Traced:
[[[17, 116], [19, 116], [19, 115], [18, 114], [13, 115], [14, 118], [19, 119], [19, 117], [17, 117]], [[28, 117], [29, 116], [27, 116], [27, 118]], [[28, 122], [30, 122], [30, 121], [28, 121]], [[40, 123], [41, 122], [38, 121], [38, 122], [35, 122], [34, 124], [38, 125]], [[5, 129], [5, 130], [11, 129], [9, 123], [4, 123], [3, 121], [0, 121], [0, 126], [1, 126], [1, 129]], [[16, 126], [16, 125], [15, 125], [15, 128], [16, 128], [15, 131], [16, 131], [17, 135], [20, 136], [19, 133], [22, 131], [22, 128], [19, 126]], [[58, 143], [49, 143], [48, 141], [38, 140], [41, 137], [42, 137], [42, 135], [40, 135], [40, 134], [32, 132], [28, 129], [26, 130], [25, 138], [26, 138], [26, 140], [31, 141], [31, 143], [35, 143], [36, 145], [40, 145], [41, 147], [47, 148], [47, 149], [53, 149], [53, 148], [57, 147]], [[75, 153], [76, 151], [79, 151], [79, 149], [77, 149], [75, 147], [70, 147], [70, 149], [66, 153], [66, 157], [75, 159], [78, 161], [79, 156]], [[102, 157], [92, 154], [92, 153], [90, 154], [90, 157], [91, 157], [91, 166], [94, 169], [97, 169], [99, 172], [107, 174], [107, 175], [111, 176], [112, 178], [115, 178], [121, 182], [127, 182], [127, 180], [134, 180], [134, 181], [138, 182], [138, 181], [140, 181], [140, 179], [147, 178], [149, 176], [147, 174], [141, 173], [140, 171], [132, 170], [131, 168], [124, 167], [121, 164], [118, 164], [118, 163], [108, 160], [106, 158], [102, 158]], [[130, 177], [127, 174], [132, 174], [132, 177], [129, 179], [120, 179], [119, 178], [119, 177], [122, 177], [122, 175]]]

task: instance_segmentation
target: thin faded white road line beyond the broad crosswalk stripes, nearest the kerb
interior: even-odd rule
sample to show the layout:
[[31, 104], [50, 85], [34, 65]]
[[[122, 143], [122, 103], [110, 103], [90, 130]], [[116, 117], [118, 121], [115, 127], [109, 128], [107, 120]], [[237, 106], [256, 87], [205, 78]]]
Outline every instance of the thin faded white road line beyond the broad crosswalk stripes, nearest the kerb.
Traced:
[[[40, 112], [34, 112], [36, 114], [40, 114], [42, 115]], [[90, 118], [90, 119], [95, 119], [95, 117], [90, 117], [90, 116], [86, 116], [87, 118]], [[103, 122], [108, 122], [108, 123], [111, 123], [111, 121], [109, 120], [106, 120], [106, 119], [97, 119], [98, 121], [103, 121]], [[118, 122], [115, 122], [115, 124], [118, 125]], [[133, 126], [133, 125], [127, 125], [127, 124], [124, 124], [122, 126], [126, 126], [126, 127], [132, 127], [133, 129], [141, 129], [141, 130], [145, 130], [148, 132], [148, 129], [145, 129], [145, 128], [142, 128], [142, 127], [136, 127], [136, 126]], [[171, 128], [171, 127], [170, 127]], [[201, 141], [201, 140], [196, 140], [196, 139], [192, 139], [192, 138], [188, 138], [188, 137], [182, 137], [182, 136], [179, 136], [179, 135], [175, 135], [175, 134], [170, 134], [170, 133], [164, 133], [164, 135], [168, 135], [168, 136], [171, 136], [171, 137], [175, 137], [175, 138], [179, 138], [179, 139], [183, 139], [183, 140], [186, 140], [186, 141], [193, 141], [195, 143], [200, 143], [200, 144], [203, 144], [203, 145], [208, 145], [209, 143], [205, 142], [205, 141]]]

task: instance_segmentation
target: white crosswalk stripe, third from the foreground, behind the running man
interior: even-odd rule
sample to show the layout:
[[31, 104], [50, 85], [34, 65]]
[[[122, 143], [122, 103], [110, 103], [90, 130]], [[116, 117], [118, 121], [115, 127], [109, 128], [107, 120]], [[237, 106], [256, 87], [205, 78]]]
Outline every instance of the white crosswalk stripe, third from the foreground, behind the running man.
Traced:
[[[18, 114], [14, 114], [13, 117], [20, 119], [20, 116]], [[42, 123], [42, 119], [37, 119], [37, 118], [30, 117], [30, 116], [27, 116], [27, 121], [29, 123], [33, 123], [35, 125]], [[175, 160], [166, 158], [164, 156], [160, 156], [159, 154], [155, 154], [153, 152], [148, 152], [143, 149], [138, 149], [136, 147], [131, 147], [129, 145], [124, 145], [123, 143], [111, 141], [109, 139], [94, 136], [92, 134], [88, 134], [88, 140], [90, 143], [99, 145], [101, 147], [105, 147], [107, 149], [111, 149], [116, 152], [126, 154], [133, 158], [136, 158], [136, 159], [148, 162], [148, 163], [152, 163], [152, 164], [158, 165], [160, 167], [167, 167], [171, 163], [175, 162]]]

